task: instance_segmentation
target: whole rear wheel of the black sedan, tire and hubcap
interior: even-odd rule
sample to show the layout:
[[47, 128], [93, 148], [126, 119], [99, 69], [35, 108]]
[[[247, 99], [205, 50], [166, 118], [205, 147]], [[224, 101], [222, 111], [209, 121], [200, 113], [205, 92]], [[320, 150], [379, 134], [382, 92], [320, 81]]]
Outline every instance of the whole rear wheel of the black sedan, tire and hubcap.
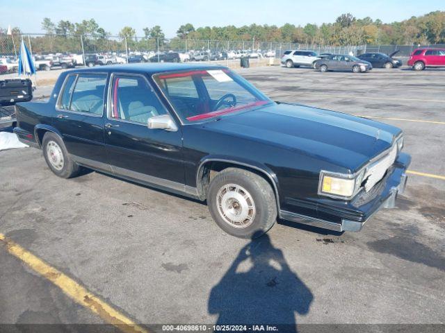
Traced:
[[51, 132], [45, 133], [42, 140], [42, 150], [44, 160], [56, 176], [72, 178], [79, 174], [79, 165], [72, 160], [65, 144], [58, 135]]

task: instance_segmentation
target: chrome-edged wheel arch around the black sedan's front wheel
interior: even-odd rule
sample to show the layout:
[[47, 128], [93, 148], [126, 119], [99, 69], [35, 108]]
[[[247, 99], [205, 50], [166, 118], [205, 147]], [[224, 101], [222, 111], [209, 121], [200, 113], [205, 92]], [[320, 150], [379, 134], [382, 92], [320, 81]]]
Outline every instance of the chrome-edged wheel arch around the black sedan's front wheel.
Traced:
[[200, 161], [196, 172], [196, 190], [200, 199], [204, 200], [206, 198], [210, 180], [213, 178], [211, 172], [218, 173], [230, 167], [252, 171], [266, 179], [273, 189], [277, 210], [280, 212], [280, 193], [275, 172], [264, 164], [232, 157], [205, 157]]

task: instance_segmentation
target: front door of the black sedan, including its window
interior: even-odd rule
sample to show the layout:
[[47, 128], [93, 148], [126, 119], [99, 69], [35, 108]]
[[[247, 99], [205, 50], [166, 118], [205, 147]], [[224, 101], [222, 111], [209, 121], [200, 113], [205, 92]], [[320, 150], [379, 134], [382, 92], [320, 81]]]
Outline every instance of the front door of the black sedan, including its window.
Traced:
[[113, 74], [105, 144], [114, 173], [184, 191], [181, 130], [149, 129], [147, 121], [168, 113], [145, 76]]

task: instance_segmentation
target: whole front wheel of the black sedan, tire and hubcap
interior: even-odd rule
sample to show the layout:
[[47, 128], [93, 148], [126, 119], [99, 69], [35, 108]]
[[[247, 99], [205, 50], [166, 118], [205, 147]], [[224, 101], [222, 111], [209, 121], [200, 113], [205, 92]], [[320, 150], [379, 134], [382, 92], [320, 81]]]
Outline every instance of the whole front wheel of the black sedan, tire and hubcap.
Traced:
[[210, 182], [207, 205], [216, 224], [227, 234], [239, 238], [260, 237], [277, 221], [272, 187], [263, 177], [243, 169], [220, 171]]

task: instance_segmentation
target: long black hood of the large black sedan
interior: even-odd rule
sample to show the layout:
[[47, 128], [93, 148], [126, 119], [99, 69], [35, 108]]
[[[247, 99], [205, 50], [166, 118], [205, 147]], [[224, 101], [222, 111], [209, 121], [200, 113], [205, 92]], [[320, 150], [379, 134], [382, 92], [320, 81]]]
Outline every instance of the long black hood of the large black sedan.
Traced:
[[312, 155], [355, 172], [389, 148], [399, 128], [305, 105], [273, 103], [202, 124], [211, 131], [244, 137]]

